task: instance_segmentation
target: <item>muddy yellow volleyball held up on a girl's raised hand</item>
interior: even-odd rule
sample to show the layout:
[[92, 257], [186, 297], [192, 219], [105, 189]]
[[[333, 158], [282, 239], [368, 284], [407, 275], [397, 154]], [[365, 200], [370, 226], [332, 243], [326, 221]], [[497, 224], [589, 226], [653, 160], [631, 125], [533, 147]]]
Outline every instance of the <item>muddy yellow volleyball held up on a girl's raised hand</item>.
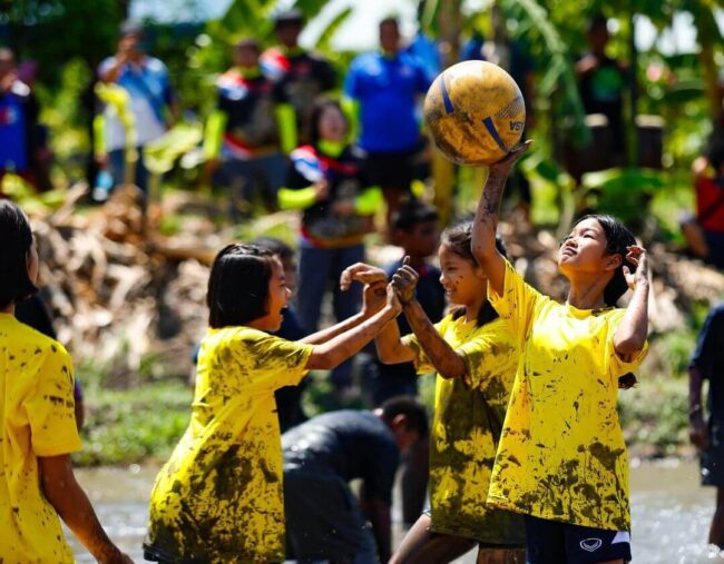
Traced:
[[424, 99], [424, 121], [438, 149], [458, 165], [491, 165], [516, 147], [526, 105], [497, 65], [464, 61], [442, 71]]

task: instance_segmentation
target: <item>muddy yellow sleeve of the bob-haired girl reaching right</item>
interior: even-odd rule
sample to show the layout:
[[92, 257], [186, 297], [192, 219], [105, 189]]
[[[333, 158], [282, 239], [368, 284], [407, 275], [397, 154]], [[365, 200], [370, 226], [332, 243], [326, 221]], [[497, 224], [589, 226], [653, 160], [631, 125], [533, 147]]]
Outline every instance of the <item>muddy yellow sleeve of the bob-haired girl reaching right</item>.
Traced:
[[244, 345], [243, 354], [252, 355], [260, 384], [272, 389], [296, 386], [309, 372], [306, 362], [314, 348], [266, 334], [244, 337]]

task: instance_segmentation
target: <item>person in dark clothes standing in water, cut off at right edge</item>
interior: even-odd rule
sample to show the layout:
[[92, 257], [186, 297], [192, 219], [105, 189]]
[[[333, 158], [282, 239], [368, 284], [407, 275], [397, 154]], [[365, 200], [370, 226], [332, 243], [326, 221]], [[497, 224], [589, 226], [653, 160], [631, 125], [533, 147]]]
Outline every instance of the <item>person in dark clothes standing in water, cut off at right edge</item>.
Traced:
[[[699, 448], [702, 485], [716, 487], [716, 511], [708, 542], [724, 550], [724, 303], [706, 317], [688, 366], [688, 419], [692, 442]], [[708, 379], [706, 414], [702, 384]]]

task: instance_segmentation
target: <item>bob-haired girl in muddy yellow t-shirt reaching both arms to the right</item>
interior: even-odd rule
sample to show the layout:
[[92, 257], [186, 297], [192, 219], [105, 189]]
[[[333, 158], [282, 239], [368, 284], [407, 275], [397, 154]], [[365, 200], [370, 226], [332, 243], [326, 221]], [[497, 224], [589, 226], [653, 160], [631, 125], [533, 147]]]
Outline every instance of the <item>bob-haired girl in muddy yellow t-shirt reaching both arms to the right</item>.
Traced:
[[148, 560], [284, 560], [274, 392], [358, 353], [401, 310], [384, 284], [368, 285], [365, 299], [385, 291], [379, 311], [363, 309], [292, 343], [268, 334], [280, 328], [291, 294], [280, 259], [252, 245], [229, 245], [216, 256], [207, 294], [211, 327], [200, 345], [192, 419], [156, 478], [144, 545]]

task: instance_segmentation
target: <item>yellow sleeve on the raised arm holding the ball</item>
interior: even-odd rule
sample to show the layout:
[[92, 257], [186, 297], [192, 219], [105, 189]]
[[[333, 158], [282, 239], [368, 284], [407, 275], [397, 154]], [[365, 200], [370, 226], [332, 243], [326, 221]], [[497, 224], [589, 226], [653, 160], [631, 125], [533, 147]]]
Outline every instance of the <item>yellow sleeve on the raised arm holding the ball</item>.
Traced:
[[506, 274], [502, 295], [496, 294], [488, 285], [488, 299], [498, 315], [508, 323], [510, 332], [518, 345], [522, 345], [530, 325], [536, 303], [541, 294], [526, 284], [512, 265], [506, 260]]

